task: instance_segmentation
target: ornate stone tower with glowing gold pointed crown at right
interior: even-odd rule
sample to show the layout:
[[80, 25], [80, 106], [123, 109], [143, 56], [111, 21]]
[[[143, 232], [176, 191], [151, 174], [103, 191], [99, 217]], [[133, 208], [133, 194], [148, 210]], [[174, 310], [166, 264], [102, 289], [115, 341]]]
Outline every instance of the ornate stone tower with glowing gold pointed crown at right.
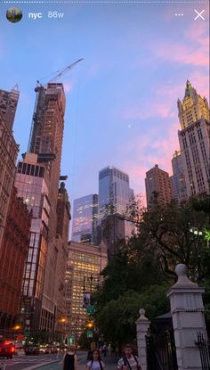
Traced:
[[209, 107], [205, 97], [187, 81], [178, 100], [181, 130], [178, 132], [187, 196], [209, 193]]

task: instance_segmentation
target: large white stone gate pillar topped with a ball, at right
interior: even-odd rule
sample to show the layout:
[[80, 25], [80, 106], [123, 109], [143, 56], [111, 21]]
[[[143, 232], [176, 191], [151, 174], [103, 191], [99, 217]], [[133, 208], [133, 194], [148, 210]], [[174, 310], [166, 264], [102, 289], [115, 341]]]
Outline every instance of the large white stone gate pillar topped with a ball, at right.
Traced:
[[198, 332], [206, 335], [202, 294], [204, 289], [192, 283], [185, 265], [177, 265], [178, 281], [167, 292], [170, 299], [174, 326], [174, 340], [179, 370], [202, 370], [198, 345]]

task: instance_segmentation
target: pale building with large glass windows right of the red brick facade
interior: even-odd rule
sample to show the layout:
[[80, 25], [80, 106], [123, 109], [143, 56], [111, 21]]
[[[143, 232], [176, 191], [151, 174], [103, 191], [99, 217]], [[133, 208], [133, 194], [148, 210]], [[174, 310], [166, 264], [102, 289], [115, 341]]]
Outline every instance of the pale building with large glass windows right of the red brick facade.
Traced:
[[48, 184], [44, 164], [38, 163], [36, 154], [27, 153], [18, 163], [15, 177], [18, 195], [32, 211], [20, 316], [26, 333], [40, 327], [51, 209]]

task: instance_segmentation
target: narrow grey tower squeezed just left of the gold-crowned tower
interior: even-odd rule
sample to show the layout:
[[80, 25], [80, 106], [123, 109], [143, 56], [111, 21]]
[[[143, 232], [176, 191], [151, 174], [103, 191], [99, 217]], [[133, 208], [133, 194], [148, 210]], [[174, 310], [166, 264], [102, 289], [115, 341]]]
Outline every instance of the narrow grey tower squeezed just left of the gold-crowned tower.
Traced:
[[180, 203], [185, 201], [187, 197], [181, 152], [174, 152], [172, 168], [173, 176], [171, 177], [171, 180], [173, 198]]

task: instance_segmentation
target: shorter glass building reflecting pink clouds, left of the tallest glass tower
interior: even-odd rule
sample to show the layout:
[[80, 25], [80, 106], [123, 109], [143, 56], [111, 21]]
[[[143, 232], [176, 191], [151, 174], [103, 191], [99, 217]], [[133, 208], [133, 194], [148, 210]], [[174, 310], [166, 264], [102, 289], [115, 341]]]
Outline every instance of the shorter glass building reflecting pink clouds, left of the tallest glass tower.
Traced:
[[97, 244], [98, 194], [74, 201], [72, 241]]

